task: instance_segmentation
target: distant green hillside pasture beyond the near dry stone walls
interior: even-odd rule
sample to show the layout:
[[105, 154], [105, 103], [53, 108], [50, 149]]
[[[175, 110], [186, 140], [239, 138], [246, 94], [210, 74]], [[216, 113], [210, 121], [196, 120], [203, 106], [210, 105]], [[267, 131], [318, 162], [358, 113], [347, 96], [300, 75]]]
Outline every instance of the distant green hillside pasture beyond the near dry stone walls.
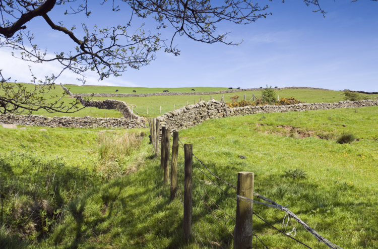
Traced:
[[[26, 86], [29, 89], [32, 89], [33, 85], [26, 84]], [[115, 93], [115, 89], [119, 90], [119, 93], [132, 93], [133, 90], [136, 89], [137, 93], [152, 93], [152, 92], [162, 92], [163, 88], [131, 88], [131, 87], [105, 87], [105, 86], [70, 86], [67, 85], [67, 87], [71, 90], [73, 93]], [[196, 91], [204, 91], [204, 92], [212, 92], [212, 91], [221, 91], [221, 90], [228, 90], [227, 88], [213, 88], [213, 87], [194, 87]], [[191, 92], [192, 88], [167, 88], [171, 92]], [[165, 89], [164, 89], [165, 90]], [[48, 94], [48, 96], [62, 96], [63, 90], [59, 85], [55, 86], [55, 89], [51, 90], [51, 92]], [[340, 91], [323, 91], [323, 90], [306, 90], [306, 89], [291, 89], [291, 90], [280, 90], [276, 92], [277, 95], [282, 97], [294, 97], [296, 99], [299, 99], [300, 101], [307, 101], [308, 103], [315, 103], [315, 102], [333, 102], [333, 101], [339, 101], [340, 99], [343, 100], [343, 94]], [[253, 94], [255, 94], [256, 97], [261, 97], [260, 91], [254, 91], [254, 92], [240, 92], [235, 93], [235, 95], [239, 95], [240, 99], [244, 97], [244, 94], [246, 94], [246, 99], [249, 100], [252, 98]], [[234, 94], [224, 94], [225, 101], [228, 101], [231, 96]], [[378, 95], [367, 95], [367, 94], [361, 94], [363, 96], [367, 96], [369, 98], [378, 97]], [[213, 97], [216, 100], [221, 99], [220, 94], [215, 95], [186, 95], [186, 96], [151, 96], [151, 97], [130, 97], [130, 98], [124, 98], [124, 97], [113, 97], [113, 99], [122, 100], [129, 104], [135, 104], [137, 105], [134, 110], [136, 111], [136, 114], [140, 116], [146, 116], [146, 117], [156, 117], [160, 116], [161, 114], [164, 114], [168, 111], [173, 110], [174, 108], [180, 108], [182, 106], [185, 106], [186, 103], [193, 104], [195, 102], [198, 102], [201, 98], [201, 100], [210, 100], [210, 98]], [[56, 98], [57, 99], [57, 98]], [[93, 100], [105, 100], [108, 99], [108, 97], [94, 97]], [[62, 99], [62, 101], [69, 103], [72, 101], [72, 99], [69, 96], [66, 96]], [[147, 113], [148, 109], [148, 113]], [[161, 109], [161, 111], [160, 111]], [[138, 113], [137, 113], [138, 112]], [[161, 114], [160, 114], [161, 113]], [[90, 115], [94, 117], [121, 117], [122, 114], [119, 111], [116, 110], [105, 110], [105, 109], [97, 109], [94, 107], [91, 108], [84, 108], [78, 112], [75, 113], [54, 113], [49, 114], [46, 111], [40, 110], [35, 111], [33, 114], [37, 115], [47, 115], [47, 116], [84, 116], [84, 115]]]

